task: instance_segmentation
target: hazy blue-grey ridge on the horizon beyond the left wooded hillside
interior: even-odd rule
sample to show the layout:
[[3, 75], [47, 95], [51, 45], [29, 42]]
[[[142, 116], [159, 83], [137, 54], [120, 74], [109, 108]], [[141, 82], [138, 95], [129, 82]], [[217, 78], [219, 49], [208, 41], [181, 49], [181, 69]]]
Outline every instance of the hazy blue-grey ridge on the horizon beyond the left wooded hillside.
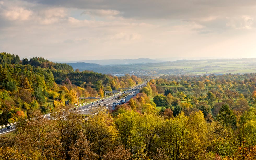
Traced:
[[136, 64], [136, 63], [158, 63], [158, 62], [164, 62], [161, 60], [152, 60], [149, 58], [139, 58], [139, 59], [111, 59], [111, 60], [82, 60], [82, 61], [69, 61], [69, 62], [61, 62], [61, 63], [96, 63], [100, 65], [117, 65], [117, 64]]

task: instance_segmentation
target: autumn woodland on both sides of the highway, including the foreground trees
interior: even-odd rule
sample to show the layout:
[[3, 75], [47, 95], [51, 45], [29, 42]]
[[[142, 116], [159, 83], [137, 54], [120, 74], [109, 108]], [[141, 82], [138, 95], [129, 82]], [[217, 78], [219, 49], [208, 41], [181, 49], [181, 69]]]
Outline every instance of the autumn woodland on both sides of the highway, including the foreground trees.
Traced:
[[[117, 78], [73, 72], [64, 64], [55, 69], [56, 64], [48, 61], [43, 68], [43, 59], [37, 66], [30, 61], [25, 65], [24, 60], [17, 61], [19, 64], [12, 61], [1, 61], [5, 65], [1, 73], [6, 70], [9, 79], [1, 84], [0, 116], [17, 117], [22, 111], [35, 118], [19, 123], [14, 133], [0, 136], [0, 159], [256, 159], [255, 73], [164, 75], [151, 79], [127, 103], [84, 119], [66, 109], [70, 106], [63, 101], [73, 98], [75, 103], [76, 94], [101, 95], [101, 91], [143, 80], [133, 75]], [[26, 72], [20, 69], [15, 74], [16, 66], [26, 68]], [[24, 85], [21, 73], [28, 79]], [[46, 73], [51, 73], [49, 78]], [[30, 79], [30, 74], [35, 78]], [[41, 82], [35, 80], [37, 76]], [[13, 90], [7, 82], [15, 84]], [[21, 90], [26, 92], [21, 94]], [[40, 96], [44, 96], [42, 101]], [[34, 103], [36, 108], [32, 107]], [[54, 120], [42, 116], [48, 109], [55, 111]], [[8, 118], [16, 121], [15, 116]], [[17, 120], [22, 118], [18, 116]]]

